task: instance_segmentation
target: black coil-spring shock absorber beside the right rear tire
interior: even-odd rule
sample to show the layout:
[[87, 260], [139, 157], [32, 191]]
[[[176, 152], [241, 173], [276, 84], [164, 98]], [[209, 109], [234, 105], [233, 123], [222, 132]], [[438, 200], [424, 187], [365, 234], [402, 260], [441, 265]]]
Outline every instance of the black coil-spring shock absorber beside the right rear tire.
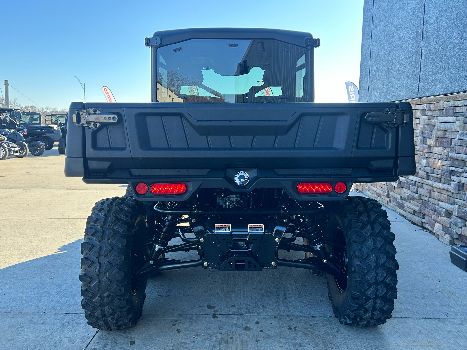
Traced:
[[[292, 206], [295, 209], [310, 209], [310, 202], [292, 200]], [[318, 220], [314, 214], [305, 214], [300, 217], [295, 217], [295, 225], [298, 229], [303, 231], [303, 238], [308, 239], [309, 244], [315, 250], [315, 255], [319, 259], [325, 259], [327, 252], [324, 246], [323, 232], [320, 231]], [[300, 235], [298, 235], [300, 236]]]

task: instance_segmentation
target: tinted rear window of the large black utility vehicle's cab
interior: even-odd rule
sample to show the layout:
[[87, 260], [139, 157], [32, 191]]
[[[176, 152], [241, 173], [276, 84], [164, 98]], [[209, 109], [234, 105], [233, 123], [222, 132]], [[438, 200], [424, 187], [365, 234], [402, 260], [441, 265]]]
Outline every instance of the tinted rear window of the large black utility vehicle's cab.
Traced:
[[308, 50], [277, 40], [191, 39], [157, 49], [158, 102], [309, 102]]

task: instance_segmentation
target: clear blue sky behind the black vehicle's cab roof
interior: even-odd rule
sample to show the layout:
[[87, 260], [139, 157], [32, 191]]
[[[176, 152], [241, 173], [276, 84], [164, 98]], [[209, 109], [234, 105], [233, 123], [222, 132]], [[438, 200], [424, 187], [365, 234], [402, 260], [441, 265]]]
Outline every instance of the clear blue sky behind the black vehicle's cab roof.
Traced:
[[[150, 102], [149, 48], [156, 30], [194, 27], [279, 28], [310, 32], [315, 49], [315, 101], [347, 102], [345, 81], [359, 84], [363, 0], [358, 1], [6, 1], [0, 80], [41, 107]], [[1, 96], [1, 95], [0, 95]], [[10, 99], [32, 103], [10, 88]]]

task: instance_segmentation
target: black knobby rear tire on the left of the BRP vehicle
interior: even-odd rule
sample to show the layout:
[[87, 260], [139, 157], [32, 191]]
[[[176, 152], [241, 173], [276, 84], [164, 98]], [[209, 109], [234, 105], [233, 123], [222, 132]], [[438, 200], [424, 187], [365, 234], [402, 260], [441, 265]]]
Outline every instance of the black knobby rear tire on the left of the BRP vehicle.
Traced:
[[97, 202], [87, 218], [81, 244], [81, 305], [89, 325], [98, 329], [134, 327], [142, 314], [146, 278], [134, 278], [148, 245], [146, 210], [134, 198]]

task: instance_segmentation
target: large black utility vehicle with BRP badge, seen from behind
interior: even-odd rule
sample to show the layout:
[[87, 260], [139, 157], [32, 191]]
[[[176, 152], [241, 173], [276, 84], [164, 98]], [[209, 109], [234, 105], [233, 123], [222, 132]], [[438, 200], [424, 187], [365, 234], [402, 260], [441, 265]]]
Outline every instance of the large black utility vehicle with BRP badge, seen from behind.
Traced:
[[[415, 173], [410, 104], [312, 103], [309, 33], [182, 29], [146, 45], [153, 103], [70, 106], [65, 175], [133, 193], [97, 202], [86, 222], [88, 323], [134, 326], [147, 276], [192, 266], [320, 271], [340, 322], [386, 322], [394, 234], [379, 203], [347, 196], [355, 182]], [[278, 259], [281, 249], [306, 254]], [[189, 250], [199, 259], [164, 255]]]

